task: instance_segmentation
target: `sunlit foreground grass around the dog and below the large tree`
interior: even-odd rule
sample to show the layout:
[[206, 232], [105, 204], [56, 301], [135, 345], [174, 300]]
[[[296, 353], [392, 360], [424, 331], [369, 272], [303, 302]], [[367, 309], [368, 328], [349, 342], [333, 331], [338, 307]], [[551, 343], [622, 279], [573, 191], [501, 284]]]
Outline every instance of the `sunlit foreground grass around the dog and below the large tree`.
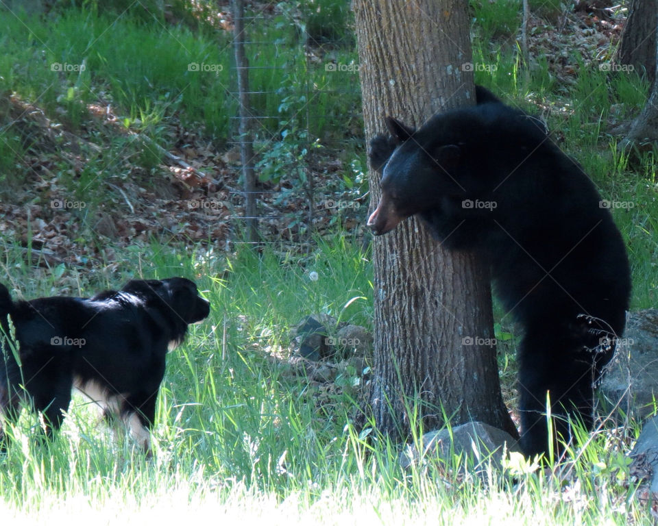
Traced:
[[[5, 264], [25, 295], [49, 294], [71, 281], [79, 284], [72, 294], [88, 295], [129, 277], [62, 268], [48, 281], [34, 280], [29, 268], [17, 271], [17, 249], [7, 247]], [[289, 327], [302, 316], [371, 319], [371, 264], [349, 238], [319, 241], [302, 258], [247, 247], [226, 258], [158, 245], [126, 257], [125, 268], [143, 277], [195, 279], [212, 305], [208, 320], [191, 327], [168, 357], [154, 459], [134, 451], [130, 439], [115, 440], [82, 398], [75, 397], [60, 434], [45, 446], [34, 441], [37, 422], [25, 413], [12, 428], [14, 447], [0, 457], [6, 520], [44, 514], [62, 521], [103, 516], [109, 523], [126, 514], [190, 520], [203, 510], [276, 524], [642, 523], [632, 487], [623, 485], [623, 434], [600, 431], [592, 440], [581, 433], [586, 447], [548, 474], [516, 461], [482, 479], [463, 458], [433, 455], [404, 471], [398, 444], [351, 427], [356, 405], [349, 395], [319, 398], [318, 386], [291, 374], [284, 360]], [[413, 428], [418, 439], [422, 429]], [[586, 505], [593, 500], [596, 506]]]

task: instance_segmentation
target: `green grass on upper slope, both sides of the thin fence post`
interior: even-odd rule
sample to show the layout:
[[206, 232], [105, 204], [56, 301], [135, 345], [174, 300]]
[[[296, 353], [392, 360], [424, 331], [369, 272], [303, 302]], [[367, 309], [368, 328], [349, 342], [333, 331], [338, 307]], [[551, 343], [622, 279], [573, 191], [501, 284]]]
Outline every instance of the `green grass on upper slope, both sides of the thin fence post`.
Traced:
[[[337, 3], [332, 9], [343, 7]], [[358, 75], [324, 75], [326, 62], [313, 66], [317, 73], [309, 75], [292, 16], [263, 17], [247, 27], [250, 82], [258, 86], [251, 103], [256, 115], [297, 118], [306, 125], [306, 102], [313, 101], [310, 116], [314, 133], [321, 135], [327, 113], [339, 115], [345, 104], [354, 111]], [[226, 138], [231, 132], [230, 118], [238, 106], [230, 32], [215, 32], [211, 38], [206, 32], [145, 23], [126, 13], [117, 18], [104, 10], [71, 9], [53, 12], [48, 23], [20, 12], [5, 13], [0, 35], [0, 88], [20, 92], [51, 113], [63, 108], [73, 127], [80, 124], [86, 103], [109, 98], [122, 116], [136, 118], [155, 108], [164, 117], [178, 112], [184, 125], [203, 123], [210, 136]], [[350, 64], [356, 51], [339, 47], [331, 56]], [[308, 77], [306, 89], [302, 77]], [[324, 94], [344, 90], [345, 82], [350, 86], [347, 102]], [[306, 100], [282, 111], [286, 91]], [[280, 129], [278, 118], [263, 123], [270, 132]]]

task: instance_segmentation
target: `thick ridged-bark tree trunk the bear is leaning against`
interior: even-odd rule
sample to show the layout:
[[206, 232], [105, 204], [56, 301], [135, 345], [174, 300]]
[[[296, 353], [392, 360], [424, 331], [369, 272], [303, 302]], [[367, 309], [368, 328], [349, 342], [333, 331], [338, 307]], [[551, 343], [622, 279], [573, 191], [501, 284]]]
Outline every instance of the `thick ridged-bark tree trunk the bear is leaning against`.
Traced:
[[[384, 117], [421, 125], [439, 110], [474, 103], [467, 0], [354, 0], [366, 137]], [[370, 171], [371, 201], [378, 175]], [[479, 420], [517, 431], [502, 401], [487, 266], [449, 253], [415, 218], [373, 240], [374, 377], [369, 411], [393, 436]], [[468, 345], [473, 342], [473, 345]], [[415, 423], [418, 423], [417, 421]]]

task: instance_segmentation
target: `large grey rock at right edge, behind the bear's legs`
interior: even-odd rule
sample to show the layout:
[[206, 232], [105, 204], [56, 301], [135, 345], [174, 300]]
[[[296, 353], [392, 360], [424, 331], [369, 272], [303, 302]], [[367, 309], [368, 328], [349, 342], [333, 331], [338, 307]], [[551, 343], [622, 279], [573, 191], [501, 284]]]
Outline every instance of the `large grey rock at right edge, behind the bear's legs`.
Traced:
[[653, 414], [653, 400], [658, 399], [657, 363], [658, 310], [632, 312], [601, 382], [602, 412], [621, 410], [637, 418]]

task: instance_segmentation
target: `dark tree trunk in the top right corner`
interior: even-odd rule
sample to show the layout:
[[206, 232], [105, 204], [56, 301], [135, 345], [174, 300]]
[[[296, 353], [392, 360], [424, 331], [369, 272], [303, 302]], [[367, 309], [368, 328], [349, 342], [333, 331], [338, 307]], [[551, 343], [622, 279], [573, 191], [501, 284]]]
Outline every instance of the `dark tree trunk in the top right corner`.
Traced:
[[620, 64], [632, 65], [638, 73], [646, 72], [649, 84], [656, 73], [656, 26], [658, 0], [633, 0], [618, 51]]

